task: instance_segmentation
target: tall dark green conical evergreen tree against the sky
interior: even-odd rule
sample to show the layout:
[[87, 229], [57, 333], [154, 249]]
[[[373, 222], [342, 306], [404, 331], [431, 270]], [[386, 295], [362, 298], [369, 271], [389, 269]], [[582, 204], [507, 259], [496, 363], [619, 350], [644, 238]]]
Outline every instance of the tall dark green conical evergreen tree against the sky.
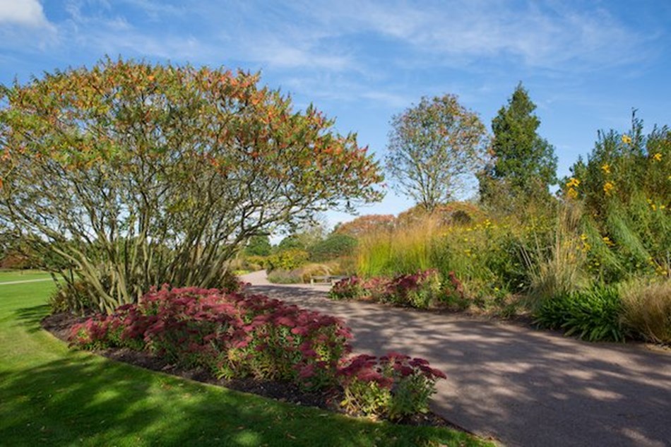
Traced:
[[[522, 83], [492, 120], [494, 162], [480, 174], [480, 195], [490, 205], [547, 199], [557, 181], [554, 147], [538, 133], [536, 106]], [[503, 202], [503, 203], [501, 203]]]

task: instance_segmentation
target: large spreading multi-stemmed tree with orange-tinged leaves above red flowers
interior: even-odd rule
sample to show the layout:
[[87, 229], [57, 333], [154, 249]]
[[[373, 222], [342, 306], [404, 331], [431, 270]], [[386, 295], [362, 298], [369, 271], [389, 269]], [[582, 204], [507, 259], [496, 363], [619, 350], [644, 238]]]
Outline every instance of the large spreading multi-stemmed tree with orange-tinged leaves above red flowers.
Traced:
[[379, 198], [355, 134], [258, 83], [106, 59], [1, 86], [0, 227], [109, 310], [150, 285], [213, 287], [252, 235]]

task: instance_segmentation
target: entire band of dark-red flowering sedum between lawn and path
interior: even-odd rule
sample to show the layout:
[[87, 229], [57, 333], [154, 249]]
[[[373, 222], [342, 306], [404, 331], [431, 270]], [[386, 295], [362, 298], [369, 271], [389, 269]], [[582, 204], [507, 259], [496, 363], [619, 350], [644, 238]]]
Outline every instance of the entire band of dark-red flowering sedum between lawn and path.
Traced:
[[262, 295], [163, 287], [71, 329], [84, 349], [148, 350], [218, 378], [290, 381], [308, 389], [342, 386], [345, 411], [400, 419], [427, 411], [444, 378], [423, 359], [401, 354], [348, 358], [343, 321]]

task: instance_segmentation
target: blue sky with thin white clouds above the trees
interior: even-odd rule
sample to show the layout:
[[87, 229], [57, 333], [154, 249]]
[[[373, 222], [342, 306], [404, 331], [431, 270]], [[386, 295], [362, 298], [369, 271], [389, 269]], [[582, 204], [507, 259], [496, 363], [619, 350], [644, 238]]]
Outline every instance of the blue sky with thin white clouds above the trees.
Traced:
[[[0, 83], [105, 54], [260, 70], [378, 158], [393, 114], [423, 95], [456, 94], [489, 127], [519, 81], [560, 176], [632, 107], [646, 130], [671, 124], [667, 0], [0, 0]], [[410, 205], [388, 191], [360, 212]]]

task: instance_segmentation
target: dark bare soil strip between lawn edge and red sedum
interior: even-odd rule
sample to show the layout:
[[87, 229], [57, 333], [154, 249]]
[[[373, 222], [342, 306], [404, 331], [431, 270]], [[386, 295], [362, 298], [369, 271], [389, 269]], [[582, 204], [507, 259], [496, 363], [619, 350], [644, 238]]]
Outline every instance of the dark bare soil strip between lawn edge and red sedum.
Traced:
[[[44, 330], [52, 333], [56, 338], [67, 342], [70, 335], [70, 328], [74, 324], [81, 323], [85, 320], [86, 317], [78, 317], [73, 314], [62, 312], [44, 317], [41, 323]], [[210, 383], [212, 385], [222, 386], [244, 393], [253, 393], [266, 398], [279, 400], [280, 402], [319, 407], [323, 410], [343, 413], [338, 405], [338, 403], [343, 400], [343, 390], [340, 388], [314, 392], [305, 391], [293, 383], [281, 381], [259, 381], [252, 378], [233, 380], [217, 379], [206, 369], [184, 368], [177, 364], [171, 364], [161, 357], [156, 357], [150, 352], [131, 350], [126, 347], [107, 348], [105, 350], [96, 351], [96, 353], [103, 357], [116, 360], [117, 362], [133, 364], [152, 371], [160, 371], [165, 374], [184, 377], [185, 379], [191, 379], [198, 382]], [[429, 412], [425, 415], [408, 417], [398, 421], [398, 423], [415, 426], [450, 427], [452, 429], [470, 433], [468, 430], [452, 424], [433, 412]]]

